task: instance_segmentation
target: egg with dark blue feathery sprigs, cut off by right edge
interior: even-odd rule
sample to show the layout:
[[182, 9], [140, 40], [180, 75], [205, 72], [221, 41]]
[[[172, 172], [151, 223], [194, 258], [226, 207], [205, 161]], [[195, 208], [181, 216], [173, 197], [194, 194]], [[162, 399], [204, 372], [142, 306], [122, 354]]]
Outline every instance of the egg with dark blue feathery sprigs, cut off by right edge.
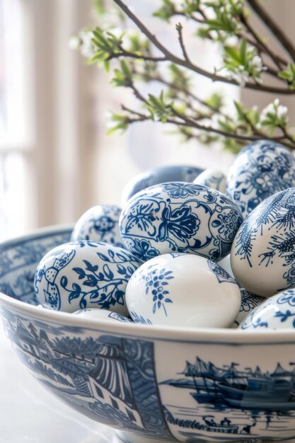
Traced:
[[236, 280], [270, 297], [295, 285], [295, 188], [272, 195], [245, 218], [231, 248]]

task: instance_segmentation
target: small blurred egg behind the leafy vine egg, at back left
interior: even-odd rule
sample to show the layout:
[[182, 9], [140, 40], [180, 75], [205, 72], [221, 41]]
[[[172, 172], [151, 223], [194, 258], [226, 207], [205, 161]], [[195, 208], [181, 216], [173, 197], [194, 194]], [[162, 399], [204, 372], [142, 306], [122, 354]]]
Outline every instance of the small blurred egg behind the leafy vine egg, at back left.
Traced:
[[119, 219], [122, 209], [116, 205], [93, 206], [76, 222], [71, 241], [94, 240], [124, 248]]

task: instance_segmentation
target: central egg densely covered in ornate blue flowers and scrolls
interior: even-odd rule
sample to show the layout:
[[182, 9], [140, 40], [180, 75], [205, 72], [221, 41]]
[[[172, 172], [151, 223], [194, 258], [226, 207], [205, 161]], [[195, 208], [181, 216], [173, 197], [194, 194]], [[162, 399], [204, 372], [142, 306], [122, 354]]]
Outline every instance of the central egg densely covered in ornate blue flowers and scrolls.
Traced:
[[119, 225], [126, 248], [140, 260], [178, 251], [218, 261], [231, 250], [242, 221], [238, 207], [221, 192], [170, 182], [137, 192]]

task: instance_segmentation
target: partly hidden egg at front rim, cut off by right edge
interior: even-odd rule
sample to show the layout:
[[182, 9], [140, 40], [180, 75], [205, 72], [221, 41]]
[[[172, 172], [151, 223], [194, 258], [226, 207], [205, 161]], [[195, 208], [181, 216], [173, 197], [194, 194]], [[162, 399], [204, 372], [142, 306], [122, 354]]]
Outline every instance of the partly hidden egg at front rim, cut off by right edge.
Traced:
[[242, 330], [295, 328], [295, 289], [266, 299], [239, 326]]

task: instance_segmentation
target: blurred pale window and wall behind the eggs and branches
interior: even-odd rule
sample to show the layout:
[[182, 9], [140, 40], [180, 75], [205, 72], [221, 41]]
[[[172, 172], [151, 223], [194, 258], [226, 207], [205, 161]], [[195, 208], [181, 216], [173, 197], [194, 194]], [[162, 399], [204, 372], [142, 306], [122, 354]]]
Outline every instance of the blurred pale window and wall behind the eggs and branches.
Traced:
[[[290, 2], [289, 13], [284, 3], [268, 2], [294, 33]], [[157, 0], [128, 4], [173, 50], [174, 28], [151, 17]], [[106, 136], [105, 115], [132, 98], [70, 49], [71, 35], [91, 23], [91, 0], [0, 0], [0, 240], [75, 222], [93, 205], [120, 204], [127, 181], [146, 169], [187, 164], [226, 172], [233, 160], [219, 146], [182, 144], [160, 123]], [[218, 66], [218, 50], [197, 40], [192, 45], [199, 64]], [[223, 90], [229, 102], [241, 94], [202, 77], [196, 88], [204, 96]], [[248, 105], [273, 98], [242, 99]]]

